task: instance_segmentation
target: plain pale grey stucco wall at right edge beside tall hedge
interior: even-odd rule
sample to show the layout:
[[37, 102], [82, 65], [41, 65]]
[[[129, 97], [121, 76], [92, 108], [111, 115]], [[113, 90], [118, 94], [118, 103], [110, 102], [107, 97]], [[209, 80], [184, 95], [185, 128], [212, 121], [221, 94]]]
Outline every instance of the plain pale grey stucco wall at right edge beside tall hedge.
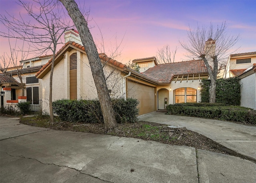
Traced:
[[256, 73], [242, 78], [240, 106], [256, 109]]

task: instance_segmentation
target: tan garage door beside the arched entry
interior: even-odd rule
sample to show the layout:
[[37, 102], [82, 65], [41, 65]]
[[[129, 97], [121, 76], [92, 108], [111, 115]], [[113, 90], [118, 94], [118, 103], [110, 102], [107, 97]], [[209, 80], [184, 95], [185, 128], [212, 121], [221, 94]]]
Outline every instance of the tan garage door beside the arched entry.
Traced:
[[127, 97], [139, 100], [139, 115], [155, 110], [155, 88], [134, 81], [127, 81]]

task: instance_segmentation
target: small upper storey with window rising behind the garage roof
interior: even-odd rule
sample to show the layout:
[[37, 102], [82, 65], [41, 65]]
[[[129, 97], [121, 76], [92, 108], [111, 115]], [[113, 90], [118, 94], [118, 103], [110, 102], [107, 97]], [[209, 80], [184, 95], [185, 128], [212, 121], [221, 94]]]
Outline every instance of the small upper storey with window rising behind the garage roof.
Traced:
[[134, 59], [132, 63], [136, 63], [140, 67], [140, 73], [144, 73], [150, 67], [154, 67], [155, 65], [157, 65], [156, 57]]

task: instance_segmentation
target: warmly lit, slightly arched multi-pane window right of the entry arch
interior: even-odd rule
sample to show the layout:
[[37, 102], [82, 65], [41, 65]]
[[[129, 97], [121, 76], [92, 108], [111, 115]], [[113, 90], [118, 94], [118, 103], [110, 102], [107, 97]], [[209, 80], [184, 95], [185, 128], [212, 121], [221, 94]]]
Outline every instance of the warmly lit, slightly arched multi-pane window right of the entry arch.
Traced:
[[196, 102], [196, 89], [179, 88], [174, 91], [175, 103]]

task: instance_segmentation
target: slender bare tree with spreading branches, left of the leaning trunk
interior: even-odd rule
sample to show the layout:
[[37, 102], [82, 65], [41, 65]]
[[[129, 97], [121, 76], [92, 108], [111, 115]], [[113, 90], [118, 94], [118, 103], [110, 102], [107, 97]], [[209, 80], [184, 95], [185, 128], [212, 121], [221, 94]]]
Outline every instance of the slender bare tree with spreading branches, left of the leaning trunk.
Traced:
[[[50, 120], [54, 122], [52, 110], [52, 75], [54, 71], [54, 60], [56, 47], [64, 31], [71, 26], [66, 21], [65, 13], [59, 7], [56, 0], [33, 0], [32, 3], [18, 0], [18, 4], [26, 10], [29, 20], [23, 18], [17, 19], [8, 14], [0, 17], [2, 24], [8, 29], [8, 32], [0, 32], [2, 37], [12, 37], [27, 41], [34, 53], [42, 55], [46, 51], [52, 51], [52, 67], [50, 72], [50, 93], [49, 108]], [[27, 21], [28, 20], [28, 21]]]

